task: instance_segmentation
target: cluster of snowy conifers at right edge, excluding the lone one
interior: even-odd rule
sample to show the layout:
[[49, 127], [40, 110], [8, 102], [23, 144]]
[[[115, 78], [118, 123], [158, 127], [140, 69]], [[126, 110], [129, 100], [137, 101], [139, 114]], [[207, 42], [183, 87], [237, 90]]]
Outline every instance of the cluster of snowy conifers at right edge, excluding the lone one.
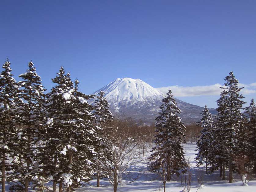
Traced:
[[[197, 145], [197, 165], [206, 164], [206, 172], [220, 169], [225, 179], [225, 168], [229, 169], [229, 183], [232, 173], [256, 173], [256, 104], [251, 100], [243, 108], [244, 97], [240, 94], [238, 80], [233, 72], [224, 79], [225, 86], [217, 100], [218, 114], [212, 118], [207, 106], [202, 112], [201, 136]], [[242, 112], [244, 110], [244, 113]]]

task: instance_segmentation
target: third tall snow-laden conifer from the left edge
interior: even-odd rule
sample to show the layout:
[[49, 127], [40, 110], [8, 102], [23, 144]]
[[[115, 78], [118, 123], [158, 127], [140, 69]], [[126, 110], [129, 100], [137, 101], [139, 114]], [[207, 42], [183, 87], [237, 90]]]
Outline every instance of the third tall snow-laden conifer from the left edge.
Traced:
[[[68, 84], [71, 84], [67, 81], [67, 75], [65, 74], [64, 68], [61, 66], [57, 76], [52, 79], [53, 83], [57, 85], [51, 89], [51, 92], [46, 94], [47, 103], [46, 107], [46, 118], [45, 122], [46, 129], [42, 133], [42, 140], [46, 143], [39, 147], [38, 153], [38, 163], [41, 165], [41, 168], [44, 170], [46, 176], [51, 177], [53, 180], [53, 192], [56, 192], [57, 182], [60, 182], [60, 191], [62, 190], [62, 181], [60, 181], [61, 174], [63, 173], [62, 162], [60, 156], [60, 151], [63, 150], [61, 146], [64, 139], [63, 129], [66, 129], [61, 120], [62, 116], [67, 113], [66, 109], [66, 99], [63, 98], [65, 93], [67, 93], [71, 87]], [[70, 96], [70, 94], [66, 94]], [[69, 101], [68, 101], [69, 103]], [[56, 119], [53, 123], [53, 119]], [[63, 165], [63, 167], [67, 164]]]

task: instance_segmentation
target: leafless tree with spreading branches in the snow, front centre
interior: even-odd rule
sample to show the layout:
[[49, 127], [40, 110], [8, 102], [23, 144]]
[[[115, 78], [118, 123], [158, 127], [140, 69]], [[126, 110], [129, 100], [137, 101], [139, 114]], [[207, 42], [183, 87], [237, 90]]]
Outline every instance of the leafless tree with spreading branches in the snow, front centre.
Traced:
[[[114, 192], [117, 186], [123, 184], [123, 176], [128, 175], [133, 169], [132, 165], [136, 165], [141, 160], [139, 157], [138, 147], [143, 143], [141, 139], [129, 136], [126, 129], [115, 130], [114, 139], [108, 142], [111, 150], [111, 157], [105, 161], [98, 161], [104, 175], [107, 176], [109, 182], [113, 185]], [[129, 183], [135, 181], [142, 175], [138, 172], [137, 177], [133, 178]]]

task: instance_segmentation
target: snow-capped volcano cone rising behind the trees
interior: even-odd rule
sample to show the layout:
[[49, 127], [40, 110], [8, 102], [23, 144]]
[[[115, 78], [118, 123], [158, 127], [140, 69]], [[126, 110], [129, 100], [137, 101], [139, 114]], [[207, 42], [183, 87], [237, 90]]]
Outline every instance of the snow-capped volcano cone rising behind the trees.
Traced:
[[[104, 91], [105, 98], [110, 104], [110, 110], [117, 117], [131, 117], [143, 122], [154, 122], [158, 115], [159, 106], [162, 104], [164, 93], [140, 79], [117, 78], [113, 82], [94, 92]], [[203, 107], [192, 105], [178, 100], [177, 105], [181, 109], [183, 122], [197, 121], [201, 117]], [[93, 101], [91, 101], [93, 102]], [[210, 109], [215, 113], [214, 109]]]

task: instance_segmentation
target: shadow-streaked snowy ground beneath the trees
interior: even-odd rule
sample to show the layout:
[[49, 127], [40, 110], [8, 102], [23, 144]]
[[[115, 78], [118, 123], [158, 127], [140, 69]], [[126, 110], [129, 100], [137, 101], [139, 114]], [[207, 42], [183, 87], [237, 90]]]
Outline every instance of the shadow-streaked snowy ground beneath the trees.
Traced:
[[[185, 155], [187, 158], [190, 158], [192, 164], [192, 184], [191, 184], [191, 192], [243, 192], [243, 191], [256, 191], [256, 178], [253, 178], [248, 183], [248, 186], [242, 186], [242, 177], [236, 173], [234, 173], [233, 183], [228, 183], [228, 171], [226, 170], [226, 180], [222, 180], [219, 177], [220, 172], [216, 171], [211, 175], [207, 175], [205, 173], [205, 167], [196, 167], [195, 162], [195, 150], [196, 145], [187, 144], [184, 146]], [[147, 156], [149, 153], [146, 154]], [[146, 158], [146, 157], [145, 157]], [[147, 168], [147, 160], [142, 161], [140, 164], [136, 165], [136, 169], [133, 172], [134, 177], [137, 176], [137, 173]], [[199, 188], [198, 185], [198, 177], [203, 174], [203, 185], [204, 187]], [[132, 177], [131, 175], [128, 177]], [[90, 185], [86, 185], [85, 187], [81, 187], [76, 189], [77, 192], [111, 192], [113, 191], [112, 186], [108, 183], [108, 180], [101, 179], [101, 187], [96, 187], [97, 179], [94, 179], [90, 182]], [[156, 173], [151, 173], [146, 171], [143, 176], [134, 181], [133, 183], [119, 186], [118, 191], [120, 192], [132, 192], [132, 191], [163, 191], [163, 185], [160, 177]], [[166, 192], [180, 192], [182, 191], [181, 187], [181, 177], [172, 176], [171, 181], [166, 183]]]

